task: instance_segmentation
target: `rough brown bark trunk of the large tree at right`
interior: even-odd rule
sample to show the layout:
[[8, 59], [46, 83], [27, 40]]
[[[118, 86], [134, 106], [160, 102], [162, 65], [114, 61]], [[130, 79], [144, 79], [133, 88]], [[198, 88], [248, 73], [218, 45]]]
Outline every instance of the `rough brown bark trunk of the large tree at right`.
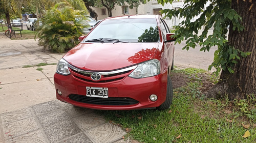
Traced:
[[243, 32], [233, 31], [230, 25], [228, 41], [229, 45], [241, 51], [251, 52], [246, 58], [237, 61], [233, 67], [234, 73], [228, 70], [222, 71], [220, 81], [205, 95], [210, 98], [243, 99], [246, 95], [256, 94], [256, 1], [246, 2], [232, 0], [231, 8], [242, 17], [245, 27]]

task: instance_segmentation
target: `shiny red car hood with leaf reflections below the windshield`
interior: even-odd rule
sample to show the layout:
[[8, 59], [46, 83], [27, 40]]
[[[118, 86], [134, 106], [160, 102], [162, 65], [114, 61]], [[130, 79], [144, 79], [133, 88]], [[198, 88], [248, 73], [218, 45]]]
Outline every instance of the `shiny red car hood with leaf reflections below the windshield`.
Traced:
[[110, 71], [154, 59], [159, 43], [80, 43], [63, 59], [83, 70]]

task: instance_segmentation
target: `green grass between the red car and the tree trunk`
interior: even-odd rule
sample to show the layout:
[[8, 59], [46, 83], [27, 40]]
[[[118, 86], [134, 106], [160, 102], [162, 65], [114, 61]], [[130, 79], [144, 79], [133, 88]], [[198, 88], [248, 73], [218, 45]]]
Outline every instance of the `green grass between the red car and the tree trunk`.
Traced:
[[[204, 73], [197, 69], [175, 72], [189, 76]], [[250, 95], [245, 101], [228, 101], [227, 98], [202, 100], [201, 86], [199, 78], [190, 80], [185, 87], [175, 89], [173, 104], [162, 111], [97, 112], [109, 122], [125, 129], [128, 132], [125, 138], [140, 142], [256, 142], [256, 112], [253, 112], [256, 108], [255, 95]], [[247, 129], [242, 123], [250, 127]], [[242, 137], [247, 130], [251, 135]]]

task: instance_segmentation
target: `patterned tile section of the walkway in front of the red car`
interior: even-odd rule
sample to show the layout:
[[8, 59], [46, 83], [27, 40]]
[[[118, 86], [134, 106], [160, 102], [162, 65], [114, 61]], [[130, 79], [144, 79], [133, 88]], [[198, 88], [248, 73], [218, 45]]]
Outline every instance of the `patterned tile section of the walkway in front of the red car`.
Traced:
[[1, 113], [0, 142], [126, 142], [120, 127], [94, 110], [52, 100]]

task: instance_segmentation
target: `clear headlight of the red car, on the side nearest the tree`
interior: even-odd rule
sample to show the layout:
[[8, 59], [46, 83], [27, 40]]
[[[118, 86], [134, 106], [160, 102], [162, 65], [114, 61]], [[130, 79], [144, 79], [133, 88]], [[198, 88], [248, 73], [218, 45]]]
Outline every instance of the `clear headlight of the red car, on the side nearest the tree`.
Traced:
[[159, 60], [151, 60], [142, 64], [139, 64], [138, 67], [129, 75], [132, 78], [144, 78], [155, 76], [160, 73], [160, 62]]

